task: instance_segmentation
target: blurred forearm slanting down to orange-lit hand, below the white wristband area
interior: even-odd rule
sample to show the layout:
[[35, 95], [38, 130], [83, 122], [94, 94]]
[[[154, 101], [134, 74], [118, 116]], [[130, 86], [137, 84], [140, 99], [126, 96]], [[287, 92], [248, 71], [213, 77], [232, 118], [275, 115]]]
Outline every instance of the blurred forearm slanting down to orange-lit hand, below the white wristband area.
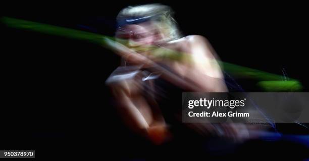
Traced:
[[114, 94], [117, 95], [121, 117], [133, 131], [155, 144], [161, 144], [167, 139], [169, 132], [163, 117], [152, 116], [160, 113], [153, 114], [142, 96], [130, 96], [121, 89], [117, 92], [114, 89]]

